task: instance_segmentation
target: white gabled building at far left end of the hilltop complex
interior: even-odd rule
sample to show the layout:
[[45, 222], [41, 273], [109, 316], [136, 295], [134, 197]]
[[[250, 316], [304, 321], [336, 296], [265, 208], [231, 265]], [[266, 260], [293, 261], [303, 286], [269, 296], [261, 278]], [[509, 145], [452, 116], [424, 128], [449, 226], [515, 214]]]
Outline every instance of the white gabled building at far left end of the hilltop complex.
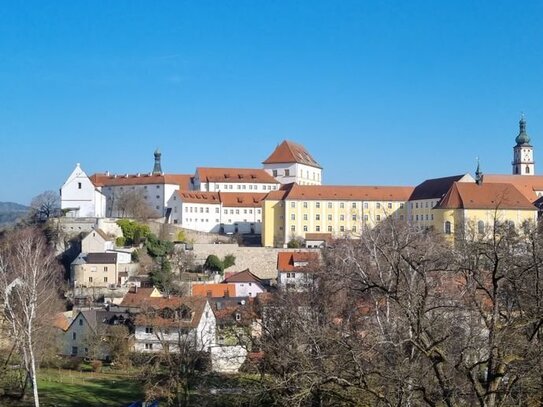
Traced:
[[91, 182], [79, 163], [60, 188], [60, 207], [70, 217], [105, 216], [106, 197]]

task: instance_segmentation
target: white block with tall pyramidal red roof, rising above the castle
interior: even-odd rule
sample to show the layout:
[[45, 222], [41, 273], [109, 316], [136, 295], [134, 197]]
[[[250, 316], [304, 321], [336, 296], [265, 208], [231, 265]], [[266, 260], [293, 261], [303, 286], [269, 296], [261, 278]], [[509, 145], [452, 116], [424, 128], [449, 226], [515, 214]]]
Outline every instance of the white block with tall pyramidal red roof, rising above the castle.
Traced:
[[283, 141], [262, 164], [281, 184], [322, 184], [322, 167], [301, 144]]

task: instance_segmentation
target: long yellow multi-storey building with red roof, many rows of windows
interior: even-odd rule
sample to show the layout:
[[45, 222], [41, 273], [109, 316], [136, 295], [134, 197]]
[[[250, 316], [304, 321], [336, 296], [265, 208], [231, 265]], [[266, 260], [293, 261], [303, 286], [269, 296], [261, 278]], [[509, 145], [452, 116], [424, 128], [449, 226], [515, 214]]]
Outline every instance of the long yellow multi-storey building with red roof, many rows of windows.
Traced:
[[262, 245], [282, 247], [311, 233], [358, 237], [394, 217], [405, 220], [412, 187], [290, 184], [263, 201]]

